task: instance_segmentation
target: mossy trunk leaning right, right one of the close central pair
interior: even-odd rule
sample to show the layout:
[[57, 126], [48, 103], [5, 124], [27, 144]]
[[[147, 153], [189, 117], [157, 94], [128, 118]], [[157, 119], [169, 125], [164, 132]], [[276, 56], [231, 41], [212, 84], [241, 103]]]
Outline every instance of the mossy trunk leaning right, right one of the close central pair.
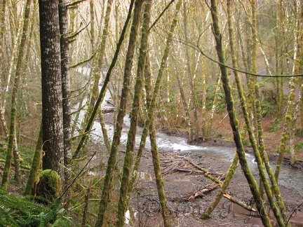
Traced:
[[[142, 4], [143, 1], [140, 2]], [[133, 107], [130, 113], [130, 129], [128, 131], [128, 139], [126, 143], [126, 153], [123, 163], [123, 175], [121, 179], [120, 196], [118, 203], [116, 226], [123, 226], [125, 221], [125, 213], [128, 209], [128, 186], [131, 176], [131, 167], [133, 165], [133, 152], [135, 148], [135, 137], [137, 135], [137, 123], [139, 118], [140, 105], [142, 104], [142, 88], [144, 81], [144, 65], [148, 48], [148, 34], [150, 13], [152, 1], [146, 1], [143, 14], [143, 23], [141, 29], [141, 43], [139, 48], [139, 57], [137, 60], [137, 77], [135, 81], [135, 92], [133, 97]]]

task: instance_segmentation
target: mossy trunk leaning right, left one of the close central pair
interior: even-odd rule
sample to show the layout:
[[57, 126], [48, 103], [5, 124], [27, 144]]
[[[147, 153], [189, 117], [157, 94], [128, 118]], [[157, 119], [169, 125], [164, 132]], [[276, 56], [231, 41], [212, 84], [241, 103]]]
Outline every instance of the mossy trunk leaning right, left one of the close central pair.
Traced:
[[137, 30], [139, 27], [139, 22], [141, 18], [141, 11], [142, 11], [142, 3], [144, 0], [136, 0], [135, 1], [135, 8], [133, 13], [133, 22], [130, 29], [130, 37], [128, 42], [128, 51], [126, 54], [126, 64], [124, 68], [124, 76], [123, 76], [123, 88], [121, 91], [121, 102], [119, 106], [118, 116], [116, 119], [116, 129], [114, 131], [113, 141], [112, 141], [112, 148], [109, 154], [109, 159], [107, 162], [107, 170], [105, 174], [105, 181], [102, 187], [102, 196], [99, 204], [99, 210], [97, 212], [97, 221], [95, 226], [103, 226], [105, 223], [105, 212], [107, 209], [107, 205], [110, 202], [109, 194], [111, 193], [112, 189], [112, 176], [114, 166], [116, 165], [116, 155], [118, 152], [120, 138], [121, 138], [121, 131], [123, 125], [123, 118], [126, 114], [126, 102], [129, 93], [129, 84], [130, 84], [130, 72], [133, 66], [133, 55], [135, 51], [135, 41], [137, 38]]

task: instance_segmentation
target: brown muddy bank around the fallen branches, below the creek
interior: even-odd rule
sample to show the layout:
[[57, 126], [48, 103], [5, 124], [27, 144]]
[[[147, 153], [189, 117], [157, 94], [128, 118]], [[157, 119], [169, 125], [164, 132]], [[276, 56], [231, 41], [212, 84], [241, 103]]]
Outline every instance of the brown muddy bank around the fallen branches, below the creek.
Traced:
[[[168, 152], [160, 151], [162, 161], [162, 170], [166, 170], [168, 166], [167, 160], [172, 160], [170, 165], [176, 163], [181, 157], [186, 157], [193, 163], [206, 168], [209, 172], [220, 172], [224, 174], [230, 165], [229, 160], [215, 159], [203, 154], [192, 152]], [[164, 161], [166, 160], [166, 161]], [[189, 163], [182, 166], [184, 170], [192, 170]], [[258, 181], [258, 174], [254, 173]], [[166, 196], [168, 207], [170, 209], [170, 219], [173, 226], [263, 226], [259, 214], [257, 212], [248, 211], [231, 202], [227, 198], [222, 198], [220, 204], [214, 210], [211, 218], [201, 220], [201, 214], [204, 209], [210, 205], [219, 188], [209, 193], [191, 199], [184, 200], [186, 196], [192, 195], [195, 191], [203, 186], [213, 185], [213, 181], [197, 172], [175, 171], [163, 176], [165, 181]], [[288, 214], [297, 208], [303, 201], [302, 190], [297, 190], [291, 185], [281, 185], [281, 194], [285, 205], [288, 207]], [[243, 175], [240, 167], [237, 168], [234, 178], [227, 189], [229, 195], [234, 196], [238, 200], [248, 205], [253, 205], [250, 188]], [[266, 195], [264, 195], [266, 198]], [[144, 153], [142, 165], [140, 167], [140, 177], [137, 180], [133, 198], [131, 202], [131, 212], [133, 215], [133, 226], [161, 226], [162, 217], [159, 214], [159, 201], [156, 191], [156, 184], [153, 177], [152, 156], [149, 151]], [[274, 224], [274, 215], [269, 207], [267, 208], [272, 223]], [[290, 218], [292, 226], [303, 226], [303, 212], [301, 207], [295, 210]]]

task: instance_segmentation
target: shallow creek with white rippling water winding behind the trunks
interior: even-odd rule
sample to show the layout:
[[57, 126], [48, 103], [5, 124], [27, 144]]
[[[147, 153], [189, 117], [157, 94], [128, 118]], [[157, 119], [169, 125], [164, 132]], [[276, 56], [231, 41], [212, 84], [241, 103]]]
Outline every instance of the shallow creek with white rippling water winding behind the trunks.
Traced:
[[[86, 80], [88, 80], [88, 75], [90, 74], [90, 68], [89, 67], [79, 67], [77, 71], [86, 77]], [[101, 80], [103, 81], [103, 76], [106, 74], [106, 71], [102, 70]], [[101, 86], [99, 86], [99, 90], [101, 89]], [[110, 92], [107, 90], [105, 94], [105, 98], [102, 102], [102, 109], [108, 107], [107, 100], [111, 99]], [[84, 100], [83, 103], [85, 103], [86, 100]], [[110, 114], [110, 113], [109, 113]], [[84, 115], [84, 111], [81, 111], [79, 122], [82, 121]], [[126, 144], [127, 141], [127, 135], [128, 135], [128, 128], [130, 125], [130, 118], [128, 115], [124, 117], [124, 123], [123, 123], [123, 130], [121, 134], [121, 143]], [[98, 121], [95, 121], [93, 125], [93, 132], [92, 137], [97, 141], [102, 141], [102, 130], [100, 123]], [[109, 138], [112, 138], [114, 135], [114, 125], [112, 123], [107, 123], [107, 132]], [[136, 146], [139, 146], [140, 144], [140, 135], [142, 132], [142, 128], [138, 127], [137, 129], [137, 137], [136, 137]], [[206, 146], [199, 146], [199, 145], [189, 145], [187, 144], [187, 139], [183, 137], [175, 137], [170, 136], [162, 132], [157, 132], [157, 146], [159, 149], [163, 151], [176, 151], [176, 152], [188, 152], [191, 151], [193, 153], [198, 153], [201, 156], [208, 156], [213, 157], [215, 160], [229, 160], [232, 162], [234, 158], [234, 153], [236, 152], [235, 148], [231, 147], [221, 147], [221, 146], [215, 146], [215, 147], [206, 147]], [[146, 149], [150, 148], [149, 138], [147, 138]], [[250, 169], [253, 173], [257, 173], [257, 163], [255, 163], [255, 157], [249, 153], [246, 153], [246, 158], [248, 160]], [[276, 163], [270, 162], [271, 168], [274, 170], [274, 167]], [[278, 180], [279, 186], [282, 185], [285, 188], [295, 188], [298, 191], [302, 191], [303, 188], [303, 174], [300, 170], [296, 170], [295, 168], [290, 168], [288, 166], [283, 165], [281, 167], [281, 172], [279, 175]]]

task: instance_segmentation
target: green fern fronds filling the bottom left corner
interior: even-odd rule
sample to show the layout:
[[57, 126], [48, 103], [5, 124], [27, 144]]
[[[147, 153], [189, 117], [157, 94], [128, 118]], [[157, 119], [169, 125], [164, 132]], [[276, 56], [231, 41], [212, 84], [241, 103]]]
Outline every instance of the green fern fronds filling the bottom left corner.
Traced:
[[0, 226], [72, 226], [60, 200], [45, 205], [0, 189]]

